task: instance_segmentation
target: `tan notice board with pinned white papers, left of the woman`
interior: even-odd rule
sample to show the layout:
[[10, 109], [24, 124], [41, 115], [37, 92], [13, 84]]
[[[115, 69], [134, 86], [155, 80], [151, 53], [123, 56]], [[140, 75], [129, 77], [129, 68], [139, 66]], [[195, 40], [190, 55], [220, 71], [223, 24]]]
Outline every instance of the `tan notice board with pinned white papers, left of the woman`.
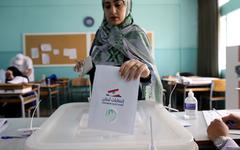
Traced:
[[24, 34], [23, 39], [34, 66], [73, 65], [87, 56], [86, 33]]

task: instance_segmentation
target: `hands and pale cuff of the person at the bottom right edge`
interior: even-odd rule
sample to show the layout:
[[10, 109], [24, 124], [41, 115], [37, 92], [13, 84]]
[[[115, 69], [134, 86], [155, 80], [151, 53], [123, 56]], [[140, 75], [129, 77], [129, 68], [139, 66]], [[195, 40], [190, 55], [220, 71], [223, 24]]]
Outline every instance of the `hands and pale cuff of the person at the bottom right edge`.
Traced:
[[230, 114], [212, 121], [207, 129], [208, 137], [220, 150], [240, 150], [237, 143], [229, 137], [229, 129], [240, 129], [239, 115]]

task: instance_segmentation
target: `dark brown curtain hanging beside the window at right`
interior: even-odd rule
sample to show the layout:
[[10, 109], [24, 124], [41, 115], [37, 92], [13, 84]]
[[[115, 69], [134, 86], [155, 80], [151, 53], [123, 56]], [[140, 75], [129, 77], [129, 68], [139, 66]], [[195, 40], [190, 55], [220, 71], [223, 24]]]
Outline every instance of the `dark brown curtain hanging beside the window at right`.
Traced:
[[198, 0], [199, 76], [218, 77], [218, 0]]

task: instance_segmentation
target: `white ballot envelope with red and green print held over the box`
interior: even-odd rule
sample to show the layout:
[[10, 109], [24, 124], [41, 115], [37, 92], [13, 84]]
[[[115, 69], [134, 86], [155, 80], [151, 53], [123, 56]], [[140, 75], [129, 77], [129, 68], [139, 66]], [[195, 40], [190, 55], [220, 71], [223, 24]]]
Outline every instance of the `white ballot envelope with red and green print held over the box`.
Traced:
[[133, 134], [139, 79], [121, 79], [119, 69], [96, 66], [88, 127]]

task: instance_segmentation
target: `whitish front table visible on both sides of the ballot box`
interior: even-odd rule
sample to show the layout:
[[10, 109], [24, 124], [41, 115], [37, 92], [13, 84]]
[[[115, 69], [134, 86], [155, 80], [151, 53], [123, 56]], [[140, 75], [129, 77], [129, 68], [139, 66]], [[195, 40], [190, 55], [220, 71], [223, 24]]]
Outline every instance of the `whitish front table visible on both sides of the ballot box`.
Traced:
[[[172, 113], [179, 118], [183, 118], [184, 112], [174, 112]], [[33, 127], [40, 127], [40, 125], [47, 120], [47, 118], [34, 118]], [[199, 149], [215, 149], [212, 142], [209, 141], [207, 137], [207, 125], [203, 114], [201, 111], [197, 113], [197, 119], [188, 120], [187, 122], [191, 123], [190, 127], [186, 127], [186, 129], [193, 135], [196, 143], [199, 146]], [[14, 136], [19, 135], [17, 129], [26, 128], [30, 125], [30, 118], [8, 118], [8, 127], [0, 133], [0, 136]], [[239, 135], [230, 135], [234, 140], [240, 139]], [[0, 139], [0, 149], [1, 150], [23, 150], [26, 139], [8, 139], [1, 140]]]

